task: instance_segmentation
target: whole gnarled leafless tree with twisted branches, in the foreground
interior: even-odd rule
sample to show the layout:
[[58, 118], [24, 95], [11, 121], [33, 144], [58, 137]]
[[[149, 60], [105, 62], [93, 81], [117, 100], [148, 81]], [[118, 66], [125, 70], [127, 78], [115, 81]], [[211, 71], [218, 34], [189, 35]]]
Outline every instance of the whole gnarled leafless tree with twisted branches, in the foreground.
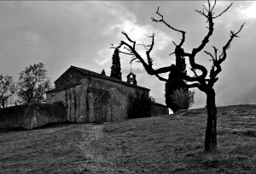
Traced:
[[[218, 81], [218, 73], [222, 70], [221, 69], [221, 64], [224, 62], [224, 60], [227, 57], [227, 50], [230, 48], [230, 43], [233, 41], [235, 37], [237, 37], [238, 33], [241, 32], [242, 27], [244, 24], [241, 25], [240, 29], [238, 31], [230, 31], [230, 38], [226, 42], [223, 48], [218, 49], [216, 47], [213, 48], [213, 53], [204, 51], [204, 53], [207, 53], [211, 57], [212, 61], [212, 68], [211, 70], [207, 71], [207, 68], [203, 65], [199, 65], [195, 62], [195, 56], [197, 53], [200, 53], [203, 48], [207, 45], [209, 42], [209, 38], [212, 36], [213, 32], [213, 20], [217, 19], [220, 17], [222, 14], [228, 11], [228, 9], [231, 7], [232, 3], [225, 8], [221, 13], [215, 14], [213, 9], [215, 8], [216, 1], [214, 1], [213, 5], [210, 3], [208, 0], [207, 6], [203, 5], [202, 10], [195, 10], [197, 13], [201, 14], [203, 17], [207, 19], [207, 36], [205, 36], [201, 42], [201, 44], [193, 48], [192, 53], [187, 53], [183, 50], [183, 43], [185, 41], [185, 35], [186, 32], [182, 30], [177, 30], [174, 28], [172, 25], [169, 25], [166, 23], [166, 20], [164, 20], [164, 16], [160, 14], [159, 8], [156, 11], [156, 14], [160, 16], [160, 20], [156, 20], [152, 18], [152, 21], [157, 22], [157, 23], [162, 23], [166, 25], [168, 28], [170, 28], [172, 31], [177, 31], [182, 35], [181, 41], [177, 44], [175, 42], [175, 51], [174, 54], [176, 57], [183, 57], [186, 59], [189, 59], [189, 64], [191, 66], [191, 69], [195, 76], [188, 76], [184, 75], [180, 70], [177, 69], [175, 65], [170, 65], [166, 67], [161, 67], [159, 69], [154, 69], [153, 68], [153, 59], [150, 56], [151, 51], [154, 48], [154, 34], [152, 36], [148, 36], [151, 38], [151, 43], [146, 45], [143, 43], [143, 47], [146, 49], [146, 60], [143, 59], [143, 57], [137, 53], [137, 48], [136, 46], [138, 45], [136, 41], [133, 41], [130, 36], [128, 36], [125, 31], [122, 31], [122, 34], [125, 35], [126, 39], [128, 42], [121, 41], [119, 43], [119, 46], [115, 48], [119, 48], [119, 53], [125, 53], [128, 55], [131, 55], [133, 60], [138, 60], [143, 64], [144, 69], [147, 71], [148, 75], [151, 76], [157, 76], [160, 81], [168, 81], [168, 79], [160, 76], [162, 73], [166, 72], [172, 72], [179, 76], [181, 79], [188, 81], [188, 84], [185, 85], [185, 87], [197, 87], [200, 89], [202, 92], [207, 94], [207, 130], [206, 130], [206, 137], [205, 137], [205, 152], [206, 153], [214, 153], [217, 149], [217, 108], [215, 104], [215, 91], [213, 89], [213, 86], [216, 81]], [[215, 15], [214, 15], [215, 14]], [[142, 45], [142, 44], [140, 44]], [[113, 48], [113, 45], [112, 45]], [[120, 50], [121, 48], [122, 51]], [[219, 53], [218, 53], [219, 51]], [[201, 71], [201, 74], [198, 74], [198, 70]], [[207, 75], [209, 75], [207, 77]]]

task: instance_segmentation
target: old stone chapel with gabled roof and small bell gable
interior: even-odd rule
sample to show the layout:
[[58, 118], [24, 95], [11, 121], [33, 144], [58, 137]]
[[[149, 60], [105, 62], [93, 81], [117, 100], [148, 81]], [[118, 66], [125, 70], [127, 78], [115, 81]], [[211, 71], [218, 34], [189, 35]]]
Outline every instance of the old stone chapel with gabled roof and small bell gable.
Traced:
[[[149, 89], [137, 86], [132, 72], [121, 81], [96, 72], [71, 66], [55, 82], [55, 89], [46, 93], [46, 102], [63, 103], [67, 121], [123, 121], [129, 117], [131, 98], [149, 98]], [[154, 104], [151, 115], [167, 115], [163, 104]]]

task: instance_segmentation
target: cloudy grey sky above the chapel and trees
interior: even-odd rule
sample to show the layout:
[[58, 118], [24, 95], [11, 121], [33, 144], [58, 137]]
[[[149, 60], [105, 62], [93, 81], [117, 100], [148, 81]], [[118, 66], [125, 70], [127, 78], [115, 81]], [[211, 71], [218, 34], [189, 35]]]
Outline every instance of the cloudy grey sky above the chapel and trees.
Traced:
[[[216, 14], [231, 1], [218, 1]], [[152, 22], [159, 19], [158, 7], [164, 19], [179, 30], [186, 31], [183, 48], [191, 53], [207, 35], [207, 20], [195, 9], [202, 9], [207, 1], [1, 1], [0, 2], [0, 74], [19, 79], [26, 66], [43, 62], [52, 83], [71, 65], [110, 75], [113, 49], [125, 40], [125, 31], [137, 43], [150, 43], [145, 35], [155, 35], [152, 51], [154, 68], [175, 63], [173, 42], [180, 34], [165, 25]], [[227, 13], [214, 20], [214, 31], [206, 51], [212, 46], [222, 48], [246, 23], [228, 50], [214, 89], [217, 106], [256, 104], [256, 2], [234, 1]], [[145, 50], [137, 46], [145, 57]], [[132, 72], [137, 84], [150, 89], [156, 102], [165, 104], [165, 82], [149, 76], [140, 63], [130, 65], [131, 58], [120, 54], [123, 81]], [[195, 61], [209, 70], [211, 62], [206, 53], [199, 53]], [[189, 65], [189, 61], [187, 62]], [[189, 66], [188, 66], [189, 68]], [[189, 75], [191, 72], [189, 72]], [[167, 76], [167, 74], [163, 75]], [[206, 105], [206, 94], [195, 90], [192, 108]]]

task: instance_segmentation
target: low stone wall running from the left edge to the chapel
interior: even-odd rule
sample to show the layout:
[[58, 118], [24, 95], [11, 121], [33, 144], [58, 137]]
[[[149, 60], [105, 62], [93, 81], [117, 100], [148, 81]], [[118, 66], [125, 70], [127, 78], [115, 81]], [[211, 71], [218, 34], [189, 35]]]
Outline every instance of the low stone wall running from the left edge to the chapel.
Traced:
[[0, 109], [0, 129], [32, 129], [48, 123], [67, 121], [67, 109], [61, 103], [23, 104]]

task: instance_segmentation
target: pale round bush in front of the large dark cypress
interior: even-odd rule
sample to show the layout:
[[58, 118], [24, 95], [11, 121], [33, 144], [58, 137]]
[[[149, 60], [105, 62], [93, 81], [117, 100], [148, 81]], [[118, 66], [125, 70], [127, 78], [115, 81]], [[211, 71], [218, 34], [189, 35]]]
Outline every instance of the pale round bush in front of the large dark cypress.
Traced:
[[194, 104], [195, 91], [186, 91], [183, 88], [175, 90], [171, 95], [173, 101], [180, 109], [189, 109]]

